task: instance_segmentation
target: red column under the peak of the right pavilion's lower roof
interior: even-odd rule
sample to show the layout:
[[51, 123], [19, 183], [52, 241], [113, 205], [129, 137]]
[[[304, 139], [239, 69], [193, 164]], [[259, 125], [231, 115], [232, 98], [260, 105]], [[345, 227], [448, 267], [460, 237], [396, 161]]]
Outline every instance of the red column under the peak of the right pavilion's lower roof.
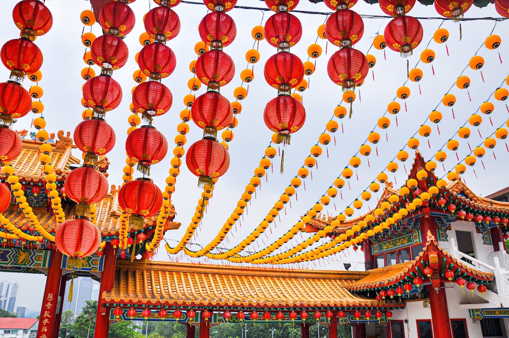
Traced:
[[438, 293], [433, 286], [429, 285], [428, 294], [430, 295], [431, 321], [433, 323], [433, 336], [440, 338], [453, 338], [450, 330], [449, 310], [447, 308], [447, 298], [443, 285]]

